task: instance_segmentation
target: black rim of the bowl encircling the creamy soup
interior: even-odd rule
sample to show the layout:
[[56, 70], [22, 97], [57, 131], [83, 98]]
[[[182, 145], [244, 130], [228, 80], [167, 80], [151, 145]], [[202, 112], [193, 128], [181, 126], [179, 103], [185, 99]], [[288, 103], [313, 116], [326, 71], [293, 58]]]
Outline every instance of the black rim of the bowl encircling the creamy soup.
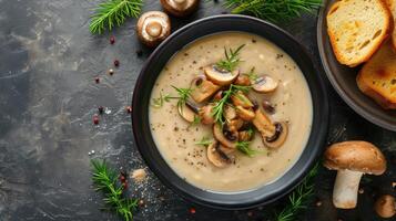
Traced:
[[[143, 88], [144, 77], [145, 78], [148, 77], [146, 76], [148, 75], [146, 72], [148, 72], [148, 70], [150, 67], [149, 64], [152, 63], [153, 60], [159, 59], [160, 57], [159, 53], [161, 53], [164, 49], [166, 49], [169, 43], [172, 42], [180, 34], [183, 34], [184, 32], [187, 32], [189, 30], [194, 29], [194, 27], [196, 24], [202, 24], [202, 23], [211, 22], [211, 21], [215, 21], [215, 20], [220, 20], [220, 22], [222, 20], [233, 20], [233, 21], [238, 21], [240, 20], [241, 22], [246, 22], [246, 23], [253, 22], [253, 23], [255, 23], [255, 24], [251, 24], [253, 27], [254, 25], [262, 25], [262, 27], [266, 27], [267, 29], [271, 29], [272, 32], [282, 35], [282, 38], [287, 39], [287, 41], [291, 41], [294, 44], [292, 46], [296, 46], [299, 50], [298, 52], [303, 53], [302, 56], [304, 59], [306, 59], [306, 61], [304, 60], [302, 62], [305, 62], [305, 66], [307, 66], [306, 69], [309, 70], [309, 73], [319, 73], [317, 71], [318, 69], [316, 67], [315, 63], [313, 62], [314, 60], [313, 60], [312, 55], [307, 52], [307, 50], [297, 40], [295, 40], [291, 34], [288, 34], [287, 32], [285, 32], [281, 28], [278, 28], [278, 27], [276, 27], [276, 25], [274, 25], [274, 24], [272, 24], [270, 22], [253, 18], [253, 17], [240, 15], [240, 14], [212, 15], [212, 17], [207, 17], [207, 18], [203, 18], [203, 19], [196, 20], [194, 22], [191, 22], [191, 23], [182, 27], [181, 29], [176, 30], [173, 34], [171, 34], [164, 42], [162, 42], [151, 53], [151, 55], [145, 61], [145, 63], [144, 63], [141, 72], [140, 72], [140, 75], [138, 77], [138, 81], [135, 83], [135, 88], [134, 88], [133, 96], [132, 96], [133, 97], [132, 98], [132, 108], [134, 110], [132, 112], [132, 117], [131, 118], [132, 118], [132, 130], [133, 130], [134, 139], [135, 139], [135, 143], [136, 143], [138, 149], [139, 149], [140, 154], [142, 155], [143, 160], [149, 166], [149, 168], [156, 175], [156, 177], [162, 181], [162, 183], [164, 183], [167, 188], [170, 188], [171, 190], [173, 190], [174, 192], [180, 194], [182, 198], [185, 198], [187, 200], [191, 200], [191, 201], [193, 201], [195, 203], [199, 203], [199, 204], [202, 204], [202, 206], [216, 208], [216, 209], [229, 209], [229, 210], [230, 209], [231, 210], [233, 210], [233, 209], [247, 209], [247, 208], [253, 208], [253, 207], [256, 207], [256, 206], [267, 204], [267, 203], [271, 203], [271, 202], [276, 201], [277, 199], [284, 197], [290, 191], [292, 191], [295, 186], [297, 186], [299, 182], [303, 181], [303, 178], [307, 175], [307, 172], [309, 171], [309, 168], [312, 168], [312, 166], [316, 161], [317, 156], [319, 155], [319, 152], [322, 151], [322, 149], [323, 149], [323, 147], [325, 145], [326, 137], [327, 137], [327, 129], [328, 129], [329, 106], [328, 106], [328, 95], [327, 95], [326, 85], [324, 84], [324, 77], [321, 74], [315, 74], [315, 76], [309, 76], [311, 81], [314, 81], [314, 82], [309, 82], [308, 78], [307, 78], [307, 73], [303, 72], [304, 77], [306, 78], [306, 81], [308, 83], [309, 92], [311, 92], [311, 95], [312, 95], [312, 102], [313, 102], [313, 125], [312, 125], [312, 130], [311, 130], [311, 134], [309, 134], [309, 137], [308, 137], [308, 141], [307, 141], [303, 152], [301, 154], [299, 158], [296, 159], [296, 162], [292, 166], [292, 168], [286, 170], [285, 173], [282, 177], [277, 178], [273, 182], [273, 183], [281, 182], [281, 183], [278, 183], [278, 185], [281, 185], [281, 187], [277, 188], [276, 190], [274, 190], [273, 192], [266, 193], [265, 196], [258, 196], [257, 197], [254, 193], [257, 192], [258, 190], [263, 191], [264, 187], [266, 188], [267, 186], [272, 186], [273, 183], [260, 187], [260, 188], [254, 189], [254, 190], [248, 190], [248, 191], [232, 192], [232, 193], [230, 193], [230, 192], [220, 193], [217, 191], [213, 192], [213, 191], [210, 191], [210, 190], [202, 190], [200, 188], [196, 188], [193, 185], [186, 182], [185, 180], [181, 180], [179, 175], [176, 175], [179, 177], [179, 180], [171, 181], [170, 180], [171, 178], [164, 176], [163, 175], [164, 171], [161, 171], [161, 169], [163, 169], [163, 168], [160, 169], [159, 165], [156, 165], [156, 164], [162, 164], [162, 162], [159, 162], [159, 161], [154, 162], [153, 159], [151, 159], [152, 156], [150, 156], [150, 152], [149, 152], [150, 150], [148, 150], [148, 148], [146, 148], [146, 141], [148, 140], [145, 140], [143, 138], [143, 134], [142, 134], [142, 131], [140, 131], [140, 129], [144, 128], [144, 125], [140, 123], [140, 122], [142, 122], [141, 120], [142, 116], [140, 115], [140, 114], [142, 114], [142, 112], [141, 112], [141, 109], [139, 109], [139, 107], [142, 108], [141, 106], [144, 106], [144, 105], [141, 104], [142, 101], [140, 98], [143, 96], [142, 95], [143, 93], [141, 91]], [[230, 31], [240, 31], [240, 30], [230, 30]], [[214, 31], [211, 34], [220, 33], [220, 32], [223, 32], [223, 31]], [[252, 31], [250, 33], [261, 35], [261, 34], [258, 34], [258, 33], [256, 33], [254, 31]], [[203, 38], [205, 35], [209, 35], [209, 34], [200, 35], [199, 38], [195, 38], [194, 41], [196, 39]], [[266, 38], [266, 36], [262, 35], [262, 38]], [[266, 38], [266, 39], [268, 39], [268, 38]], [[271, 40], [268, 40], [268, 41], [271, 41]], [[189, 43], [191, 43], [191, 42], [193, 42], [193, 41], [190, 41]], [[271, 41], [271, 42], [273, 42], [273, 41]], [[275, 43], [275, 42], [273, 42], [273, 43], [275, 45], [280, 46], [277, 43]], [[280, 46], [280, 48], [285, 51], [285, 48], [282, 48], [282, 46]], [[174, 55], [174, 53], [176, 53], [179, 50], [172, 50], [172, 51], [173, 51], [173, 54], [170, 55], [169, 59], [171, 59]], [[290, 54], [290, 53], [287, 53], [287, 54]], [[166, 62], [169, 61], [169, 59], [166, 60]], [[296, 60], [295, 56], [294, 57], [292, 56], [292, 59]], [[302, 69], [299, 63], [297, 63], [297, 64], [298, 64], [299, 69]], [[156, 73], [155, 80], [156, 80], [159, 74], [160, 73]], [[312, 91], [313, 90], [312, 85], [314, 83], [318, 84], [318, 85], [315, 85], [314, 87], [319, 88], [317, 93], [315, 92], [316, 95]], [[151, 92], [151, 90], [152, 90], [152, 85], [151, 85], [150, 92]], [[314, 99], [314, 97], [316, 97], [316, 98]], [[149, 99], [150, 99], [150, 97], [149, 97]], [[150, 103], [150, 101], [149, 101], [149, 103]], [[138, 108], [138, 112], [135, 112], [136, 108]], [[149, 108], [149, 106], [148, 106], [148, 108]], [[317, 108], [317, 109], [315, 109], [315, 108]], [[143, 112], [143, 114], [144, 114], [144, 112]], [[149, 120], [149, 119], [146, 119], [146, 120]], [[321, 124], [314, 125], [315, 122], [316, 123], [321, 123]], [[316, 130], [314, 130], [314, 127], [315, 127]], [[150, 137], [152, 139], [151, 130], [150, 130], [149, 134], [150, 134]], [[313, 136], [313, 135], [316, 135], [316, 136]], [[144, 135], [144, 136], [149, 136], [149, 135]], [[312, 145], [312, 147], [309, 146], [309, 144]], [[155, 144], [154, 144], [153, 148], [155, 148], [156, 152], [159, 155], [161, 155], [159, 152]], [[307, 149], [309, 149], [309, 151]], [[162, 156], [161, 156], [161, 158], [164, 161]], [[304, 159], [304, 158], [306, 158], [306, 159]], [[165, 162], [165, 164], [166, 164], [165, 166], [167, 167], [166, 169], [172, 170], [172, 171], [166, 171], [166, 172], [175, 173], [173, 171], [173, 169], [170, 168], [167, 162]], [[299, 166], [301, 167], [299, 170], [295, 169], [297, 165], [301, 165]], [[292, 170], [295, 170], [295, 171], [292, 172]], [[284, 177], [286, 177], [287, 173], [293, 173], [293, 175], [290, 175], [290, 176], [293, 176], [293, 179], [287, 179], [287, 180], [284, 180], [284, 182], [282, 182], [282, 179], [285, 179]], [[181, 181], [183, 183], [177, 183], [177, 181]], [[184, 188], [181, 188], [181, 185], [183, 185]], [[194, 191], [195, 190], [200, 191], [200, 193], [202, 196], [197, 196], [196, 192], [195, 193], [189, 192], [186, 190], [187, 189], [186, 187], [189, 187], [190, 190], [193, 189]], [[229, 201], [224, 201], [224, 199], [229, 199], [227, 197], [230, 197], [230, 196], [234, 196], [234, 197], [238, 197], [240, 196], [241, 197], [243, 194], [247, 196], [248, 193], [253, 194], [252, 198], [250, 199], [250, 201], [245, 200], [245, 201], [241, 202], [240, 199], [237, 199], [237, 198], [235, 198], [235, 199], [231, 199], [230, 198]], [[220, 197], [220, 196], [222, 197], [222, 199], [220, 199], [220, 200], [214, 200], [213, 199], [214, 197]]]

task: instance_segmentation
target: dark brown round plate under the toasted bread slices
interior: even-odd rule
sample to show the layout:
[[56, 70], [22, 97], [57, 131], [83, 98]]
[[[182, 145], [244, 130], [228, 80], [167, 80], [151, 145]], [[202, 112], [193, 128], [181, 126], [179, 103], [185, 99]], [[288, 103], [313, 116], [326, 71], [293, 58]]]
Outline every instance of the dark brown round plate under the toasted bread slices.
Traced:
[[396, 110], [383, 109], [357, 87], [356, 75], [361, 66], [351, 69], [335, 59], [326, 25], [326, 14], [334, 2], [335, 0], [325, 1], [317, 21], [317, 45], [327, 77], [339, 96], [357, 114], [380, 127], [396, 131]]

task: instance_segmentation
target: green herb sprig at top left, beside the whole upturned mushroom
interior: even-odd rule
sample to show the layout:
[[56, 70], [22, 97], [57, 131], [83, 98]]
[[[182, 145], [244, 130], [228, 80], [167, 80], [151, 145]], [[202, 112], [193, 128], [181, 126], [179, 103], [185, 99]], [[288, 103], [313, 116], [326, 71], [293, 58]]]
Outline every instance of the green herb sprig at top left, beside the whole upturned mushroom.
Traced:
[[128, 17], [138, 18], [142, 4], [142, 0], [106, 0], [100, 3], [91, 17], [91, 33], [101, 34], [105, 29], [112, 30], [115, 25], [120, 27]]

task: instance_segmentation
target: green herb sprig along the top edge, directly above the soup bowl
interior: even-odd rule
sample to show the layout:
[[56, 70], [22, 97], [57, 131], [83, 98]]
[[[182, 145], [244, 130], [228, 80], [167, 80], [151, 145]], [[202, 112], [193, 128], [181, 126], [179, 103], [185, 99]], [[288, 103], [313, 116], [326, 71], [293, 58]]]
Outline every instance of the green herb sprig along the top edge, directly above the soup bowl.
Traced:
[[302, 13], [312, 13], [322, 0], [225, 0], [235, 14], [250, 14], [272, 22], [290, 21]]

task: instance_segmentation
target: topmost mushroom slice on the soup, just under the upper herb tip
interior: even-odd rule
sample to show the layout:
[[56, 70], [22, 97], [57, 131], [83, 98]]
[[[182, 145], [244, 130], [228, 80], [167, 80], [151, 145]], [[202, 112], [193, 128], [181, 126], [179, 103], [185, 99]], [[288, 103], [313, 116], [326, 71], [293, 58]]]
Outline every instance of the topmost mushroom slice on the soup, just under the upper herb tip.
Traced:
[[229, 72], [219, 70], [215, 65], [205, 66], [203, 71], [210, 81], [222, 86], [231, 84], [240, 75], [238, 70]]

